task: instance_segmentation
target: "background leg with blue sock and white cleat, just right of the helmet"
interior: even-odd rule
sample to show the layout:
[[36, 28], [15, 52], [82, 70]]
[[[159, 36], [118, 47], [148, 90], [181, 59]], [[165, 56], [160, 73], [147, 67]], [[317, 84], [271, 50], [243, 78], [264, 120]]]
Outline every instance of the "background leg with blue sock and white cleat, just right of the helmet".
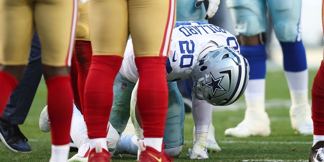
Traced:
[[227, 129], [225, 135], [235, 137], [268, 136], [270, 120], [265, 111], [266, 49], [263, 33], [266, 31], [264, 1], [227, 1], [236, 31], [239, 33], [240, 53], [250, 64], [249, 85], [245, 91], [247, 109], [244, 120]]

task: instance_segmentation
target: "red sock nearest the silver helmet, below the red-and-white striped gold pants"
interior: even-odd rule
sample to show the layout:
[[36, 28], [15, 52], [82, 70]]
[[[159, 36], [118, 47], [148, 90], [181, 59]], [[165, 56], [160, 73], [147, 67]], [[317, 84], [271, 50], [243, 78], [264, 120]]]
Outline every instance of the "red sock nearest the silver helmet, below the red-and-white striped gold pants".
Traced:
[[139, 72], [137, 106], [142, 118], [144, 137], [164, 135], [168, 110], [168, 86], [165, 57], [137, 57]]

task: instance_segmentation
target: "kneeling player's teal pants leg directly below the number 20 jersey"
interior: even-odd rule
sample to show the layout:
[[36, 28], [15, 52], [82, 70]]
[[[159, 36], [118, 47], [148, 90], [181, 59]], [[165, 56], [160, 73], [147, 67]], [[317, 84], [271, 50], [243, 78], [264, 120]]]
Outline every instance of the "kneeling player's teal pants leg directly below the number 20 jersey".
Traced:
[[163, 141], [165, 148], [183, 144], [184, 105], [176, 82], [168, 82], [169, 105]]

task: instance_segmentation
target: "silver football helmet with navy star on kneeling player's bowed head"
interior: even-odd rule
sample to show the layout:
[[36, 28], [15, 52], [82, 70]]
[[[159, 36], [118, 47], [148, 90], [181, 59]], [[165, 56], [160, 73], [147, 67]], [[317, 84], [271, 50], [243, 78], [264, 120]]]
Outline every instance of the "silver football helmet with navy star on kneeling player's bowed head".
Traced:
[[246, 58], [229, 46], [208, 47], [199, 57], [190, 73], [190, 85], [197, 99], [225, 106], [244, 93], [250, 72]]

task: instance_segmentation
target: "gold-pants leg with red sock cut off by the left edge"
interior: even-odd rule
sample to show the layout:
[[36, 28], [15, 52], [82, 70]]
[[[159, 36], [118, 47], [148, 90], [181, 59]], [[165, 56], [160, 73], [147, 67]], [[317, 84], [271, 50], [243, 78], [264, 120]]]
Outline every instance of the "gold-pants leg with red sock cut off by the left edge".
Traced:
[[32, 11], [28, 5], [16, 1], [2, 1], [0, 5], [0, 113], [21, 80], [27, 64], [33, 33]]

